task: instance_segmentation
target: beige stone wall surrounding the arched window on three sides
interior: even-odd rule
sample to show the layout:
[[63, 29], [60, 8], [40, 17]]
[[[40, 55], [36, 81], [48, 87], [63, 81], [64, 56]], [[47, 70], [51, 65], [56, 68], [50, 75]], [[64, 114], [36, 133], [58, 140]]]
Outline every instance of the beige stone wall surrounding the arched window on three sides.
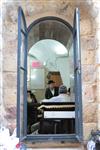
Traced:
[[[17, 83], [17, 9], [25, 12], [27, 25], [43, 16], [58, 16], [73, 24], [74, 9], [80, 9], [82, 100], [84, 140], [91, 129], [100, 129], [100, 4], [99, 1], [80, 0], [33, 0], [11, 1], [3, 8], [3, 99], [7, 125], [16, 126]], [[98, 26], [97, 26], [98, 25]], [[96, 34], [97, 33], [97, 34]], [[12, 115], [13, 114], [13, 115]]]

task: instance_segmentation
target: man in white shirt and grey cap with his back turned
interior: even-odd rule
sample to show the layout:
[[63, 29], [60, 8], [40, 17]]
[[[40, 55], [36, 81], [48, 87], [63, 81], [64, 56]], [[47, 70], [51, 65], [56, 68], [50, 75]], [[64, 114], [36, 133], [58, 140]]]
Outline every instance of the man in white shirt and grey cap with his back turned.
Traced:
[[44, 99], [42, 102], [70, 102], [70, 96], [67, 95], [67, 87], [65, 85], [61, 85], [59, 87], [59, 95], [50, 98], [49, 100]]

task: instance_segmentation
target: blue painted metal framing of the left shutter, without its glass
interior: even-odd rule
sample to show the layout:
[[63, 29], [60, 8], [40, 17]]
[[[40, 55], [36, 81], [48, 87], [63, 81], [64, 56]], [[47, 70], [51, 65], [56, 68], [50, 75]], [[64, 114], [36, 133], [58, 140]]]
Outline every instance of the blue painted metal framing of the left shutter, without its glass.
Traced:
[[[23, 26], [22, 26], [23, 25]], [[22, 44], [22, 36], [24, 37], [24, 66], [21, 66], [21, 44]], [[21, 7], [18, 8], [18, 53], [17, 53], [17, 136], [20, 138], [25, 138], [27, 131], [27, 26], [24, 17], [24, 13]], [[21, 71], [24, 73], [24, 85], [23, 85], [23, 112], [21, 112]], [[23, 129], [21, 128], [21, 113], [23, 113]], [[21, 130], [23, 134], [21, 134]]]

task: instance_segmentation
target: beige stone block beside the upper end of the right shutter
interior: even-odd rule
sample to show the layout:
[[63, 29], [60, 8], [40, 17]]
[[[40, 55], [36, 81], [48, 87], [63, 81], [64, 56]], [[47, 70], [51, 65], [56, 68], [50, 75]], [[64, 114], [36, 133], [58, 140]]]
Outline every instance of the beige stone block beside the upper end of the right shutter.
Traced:
[[92, 33], [92, 22], [90, 19], [80, 21], [80, 34], [90, 35]]

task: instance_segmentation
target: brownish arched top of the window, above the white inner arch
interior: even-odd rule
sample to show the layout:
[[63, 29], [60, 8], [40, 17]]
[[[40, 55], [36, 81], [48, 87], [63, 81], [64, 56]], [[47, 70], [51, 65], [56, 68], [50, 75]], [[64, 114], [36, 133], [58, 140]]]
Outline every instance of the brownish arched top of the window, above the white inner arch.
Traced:
[[[41, 29], [41, 31], [40, 31]], [[55, 16], [45, 16], [33, 21], [27, 28], [28, 50], [43, 39], [54, 39], [61, 42], [65, 47], [72, 43], [72, 26], [62, 18]]]

